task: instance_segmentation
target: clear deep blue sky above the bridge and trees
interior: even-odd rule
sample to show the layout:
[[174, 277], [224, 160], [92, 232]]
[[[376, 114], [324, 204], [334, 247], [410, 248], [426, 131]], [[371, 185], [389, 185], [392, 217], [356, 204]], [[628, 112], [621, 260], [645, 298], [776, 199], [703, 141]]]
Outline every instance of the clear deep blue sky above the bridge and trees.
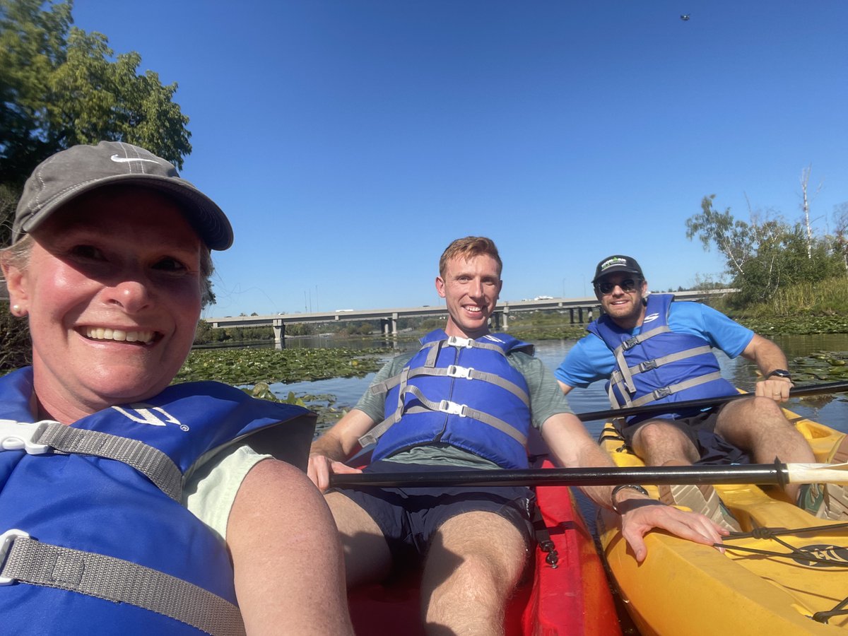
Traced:
[[[680, 19], [689, 14], [690, 20]], [[502, 300], [721, 275], [707, 194], [821, 232], [848, 201], [845, 0], [76, 0], [177, 82], [182, 175], [232, 220], [207, 316], [438, 304], [438, 257], [494, 238]]]

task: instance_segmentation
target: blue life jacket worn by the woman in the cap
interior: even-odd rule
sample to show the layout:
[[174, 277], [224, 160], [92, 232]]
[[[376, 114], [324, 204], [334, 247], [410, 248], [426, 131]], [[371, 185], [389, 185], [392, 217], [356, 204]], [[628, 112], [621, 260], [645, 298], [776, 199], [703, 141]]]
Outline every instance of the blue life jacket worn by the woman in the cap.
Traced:
[[252, 435], [299, 444], [303, 465], [314, 414], [190, 382], [64, 426], [32, 422], [32, 392], [31, 368], [0, 378], [3, 633], [243, 633], [226, 544], [181, 489]]

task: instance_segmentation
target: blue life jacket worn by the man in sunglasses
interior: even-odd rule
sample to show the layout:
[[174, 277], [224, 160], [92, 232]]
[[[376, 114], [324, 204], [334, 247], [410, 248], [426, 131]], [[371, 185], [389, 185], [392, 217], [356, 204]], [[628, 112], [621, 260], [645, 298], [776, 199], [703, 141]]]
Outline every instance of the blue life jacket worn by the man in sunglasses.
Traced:
[[[616, 370], [606, 383], [613, 409], [736, 393], [733, 384], [722, 378], [716, 355], [706, 339], [669, 329], [668, 311], [673, 300], [669, 293], [650, 294], [645, 319], [636, 336], [617, 326], [608, 315], [602, 315], [587, 327], [616, 356]], [[687, 417], [696, 412], [697, 409], [685, 413], [670, 411], [634, 416], [628, 421]]]

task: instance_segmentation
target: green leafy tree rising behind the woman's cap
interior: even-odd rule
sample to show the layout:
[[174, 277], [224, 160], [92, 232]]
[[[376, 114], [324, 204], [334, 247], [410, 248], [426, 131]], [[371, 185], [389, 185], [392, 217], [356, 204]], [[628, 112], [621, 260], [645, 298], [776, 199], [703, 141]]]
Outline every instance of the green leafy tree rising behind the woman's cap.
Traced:
[[[0, 245], [26, 177], [59, 150], [130, 142], [178, 168], [192, 151], [176, 83], [139, 75], [138, 53], [115, 58], [106, 36], [72, 26], [72, 9], [70, 0], [0, 0]], [[0, 370], [26, 364], [29, 348], [25, 321], [0, 303]]]

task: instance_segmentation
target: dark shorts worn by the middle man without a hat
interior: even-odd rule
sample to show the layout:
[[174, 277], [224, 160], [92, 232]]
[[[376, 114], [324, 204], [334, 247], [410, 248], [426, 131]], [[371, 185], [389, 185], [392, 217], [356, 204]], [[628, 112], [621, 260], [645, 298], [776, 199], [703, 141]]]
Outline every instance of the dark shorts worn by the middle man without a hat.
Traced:
[[[379, 460], [365, 472], [426, 472], [474, 470], [451, 466], [400, 464]], [[524, 537], [527, 547], [534, 544], [535, 507], [533, 490], [525, 487], [466, 486], [463, 488], [336, 488], [335, 492], [352, 499], [377, 522], [386, 538], [394, 563], [418, 564], [438, 528], [452, 516], [464, 512], [494, 512], [511, 522]]]

